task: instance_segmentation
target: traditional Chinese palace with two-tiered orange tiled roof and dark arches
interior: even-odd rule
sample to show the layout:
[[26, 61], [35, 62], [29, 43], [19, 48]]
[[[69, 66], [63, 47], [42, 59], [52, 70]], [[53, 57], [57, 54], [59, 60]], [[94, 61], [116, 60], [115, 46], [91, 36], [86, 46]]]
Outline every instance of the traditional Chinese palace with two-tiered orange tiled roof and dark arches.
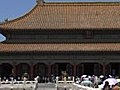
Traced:
[[0, 33], [1, 77], [120, 75], [120, 3], [37, 0]]

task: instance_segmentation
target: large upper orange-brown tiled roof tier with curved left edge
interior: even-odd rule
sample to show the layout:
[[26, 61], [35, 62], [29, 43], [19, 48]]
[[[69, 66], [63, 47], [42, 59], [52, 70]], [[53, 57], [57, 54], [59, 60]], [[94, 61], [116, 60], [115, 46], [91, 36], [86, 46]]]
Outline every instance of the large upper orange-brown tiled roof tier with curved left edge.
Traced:
[[2, 29], [120, 28], [119, 3], [44, 3], [0, 24]]

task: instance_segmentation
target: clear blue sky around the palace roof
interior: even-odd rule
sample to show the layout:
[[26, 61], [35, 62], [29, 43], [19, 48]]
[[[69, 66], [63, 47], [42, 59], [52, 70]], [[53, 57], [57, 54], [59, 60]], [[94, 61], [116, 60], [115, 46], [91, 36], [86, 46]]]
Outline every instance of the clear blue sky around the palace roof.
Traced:
[[[120, 0], [45, 0], [45, 2], [120, 2]], [[36, 5], [36, 0], [0, 0], [0, 22], [25, 15]], [[0, 34], [0, 41], [3, 41]]]

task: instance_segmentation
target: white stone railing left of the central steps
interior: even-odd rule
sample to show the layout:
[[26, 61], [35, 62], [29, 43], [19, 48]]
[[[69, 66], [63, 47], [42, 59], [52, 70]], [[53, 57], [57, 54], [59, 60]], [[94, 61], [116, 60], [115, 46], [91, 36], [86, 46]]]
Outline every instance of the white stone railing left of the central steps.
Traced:
[[36, 90], [37, 81], [1, 81], [0, 90]]

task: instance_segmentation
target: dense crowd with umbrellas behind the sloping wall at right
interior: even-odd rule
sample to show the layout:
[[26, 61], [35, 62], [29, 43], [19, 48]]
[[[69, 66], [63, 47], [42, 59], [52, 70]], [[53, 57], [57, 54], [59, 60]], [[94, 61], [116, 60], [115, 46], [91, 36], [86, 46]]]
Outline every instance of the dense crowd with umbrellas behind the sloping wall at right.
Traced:
[[118, 78], [111, 75], [82, 75], [81, 77], [77, 77], [75, 82], [88, 87], [101, 88], [102, 90], [120, 90], [119, 82], [117, 81]]

